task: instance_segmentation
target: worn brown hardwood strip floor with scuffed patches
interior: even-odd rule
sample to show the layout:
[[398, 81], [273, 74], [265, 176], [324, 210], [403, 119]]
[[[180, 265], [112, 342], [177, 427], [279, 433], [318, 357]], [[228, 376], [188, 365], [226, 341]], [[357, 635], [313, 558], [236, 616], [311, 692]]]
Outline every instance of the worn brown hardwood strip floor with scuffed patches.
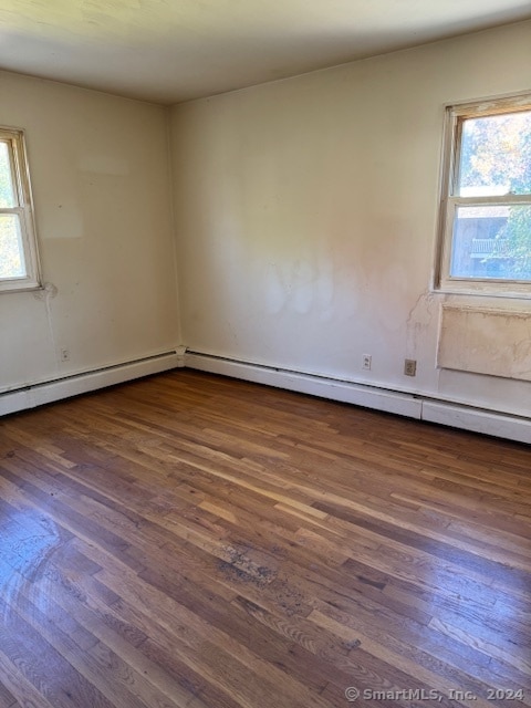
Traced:
[[0, 708], [531, 706], [530, 460], [187, 369], [0, 419]]

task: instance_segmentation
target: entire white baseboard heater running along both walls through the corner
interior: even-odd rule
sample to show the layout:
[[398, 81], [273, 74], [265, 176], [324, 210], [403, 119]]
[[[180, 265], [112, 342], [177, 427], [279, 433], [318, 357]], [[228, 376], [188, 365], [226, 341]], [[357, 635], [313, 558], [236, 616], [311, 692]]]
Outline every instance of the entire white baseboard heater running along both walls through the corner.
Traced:
[[186, 366], [365, 408], [531, 442], [531, 419], [454, 402], [179, 350], [0, 393], [0, 416]]

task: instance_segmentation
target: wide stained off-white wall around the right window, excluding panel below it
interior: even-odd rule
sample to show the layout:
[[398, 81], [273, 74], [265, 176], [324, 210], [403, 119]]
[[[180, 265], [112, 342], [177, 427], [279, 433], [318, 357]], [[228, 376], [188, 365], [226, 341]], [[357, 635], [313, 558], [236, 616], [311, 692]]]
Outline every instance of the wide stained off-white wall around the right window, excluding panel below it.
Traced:
[[529, 415], [529, 383], [437, 368], [437, 340], [442, 302], [530, 301], [430, 281], [444, 105], [529, 90], [530, 66], [527, 22], [175, 106], [184, 343]]

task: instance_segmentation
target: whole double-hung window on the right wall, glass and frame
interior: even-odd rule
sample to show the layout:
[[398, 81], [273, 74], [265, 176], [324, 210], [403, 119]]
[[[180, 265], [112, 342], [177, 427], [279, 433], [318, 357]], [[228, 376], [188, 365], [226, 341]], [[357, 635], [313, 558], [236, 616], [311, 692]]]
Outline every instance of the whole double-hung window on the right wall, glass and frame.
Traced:
[[437, 285], [531, 296], [531, 95], [447, 108]]

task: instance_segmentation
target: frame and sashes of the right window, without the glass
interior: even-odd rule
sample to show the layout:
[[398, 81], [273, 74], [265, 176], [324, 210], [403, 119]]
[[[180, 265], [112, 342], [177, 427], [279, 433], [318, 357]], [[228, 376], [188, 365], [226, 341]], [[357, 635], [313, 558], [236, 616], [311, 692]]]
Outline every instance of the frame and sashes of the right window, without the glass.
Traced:
[[500, 195], [460, 197], [458, 192], [462, 123], [467, 118], [531, 111], [531, 93], [506, 95], [499, 98], [452, 103], [445, 106], [440, 201], [438, 218], [437, 260], [434, 290], [444, 293], [486, 294], [499, 298], [530, 298], [531, 280], [470, 278], [450, 274], [454, 248], [454, 222], [462, 206], [531, 206], [531, 195]]

